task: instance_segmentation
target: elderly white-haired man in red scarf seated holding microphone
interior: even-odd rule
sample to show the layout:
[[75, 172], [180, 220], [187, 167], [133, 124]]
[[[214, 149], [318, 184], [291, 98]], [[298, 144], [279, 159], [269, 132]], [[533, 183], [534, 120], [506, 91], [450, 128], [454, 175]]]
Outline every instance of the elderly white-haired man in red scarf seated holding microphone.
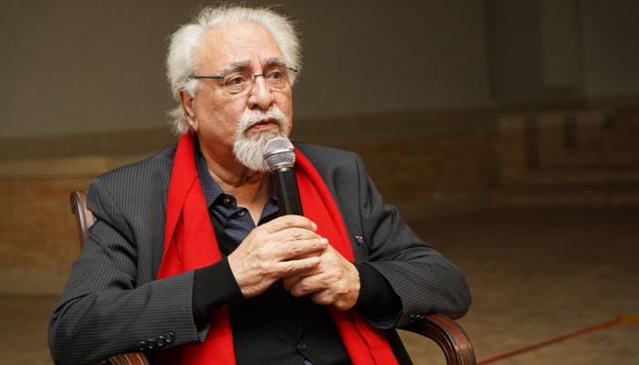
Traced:
[[171, 39], [177, 146], [96, 178], [97, 222], [49, 325], [57, 363], [393, 364], [393, 328], [460, 317], [459, 270], [382, 204], [360, 158], [296, 143], [304, 215], [278, 214], [267, 141], [288, 137], [293, 27], [205, 8]]

